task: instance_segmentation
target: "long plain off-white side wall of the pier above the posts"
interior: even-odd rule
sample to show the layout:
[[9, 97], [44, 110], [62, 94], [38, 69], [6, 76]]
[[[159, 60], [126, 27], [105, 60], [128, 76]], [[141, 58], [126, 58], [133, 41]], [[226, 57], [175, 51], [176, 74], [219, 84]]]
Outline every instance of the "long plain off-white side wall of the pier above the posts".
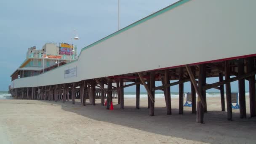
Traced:
[[[16, 79], [15, 87], [71, 83], [255, 54], [255, 5], [256, 0], [189, 0], [85, 49], [72, 64]], [[77, 67], [77, 77], [64, 79], [64, 70], [72, 67]]]

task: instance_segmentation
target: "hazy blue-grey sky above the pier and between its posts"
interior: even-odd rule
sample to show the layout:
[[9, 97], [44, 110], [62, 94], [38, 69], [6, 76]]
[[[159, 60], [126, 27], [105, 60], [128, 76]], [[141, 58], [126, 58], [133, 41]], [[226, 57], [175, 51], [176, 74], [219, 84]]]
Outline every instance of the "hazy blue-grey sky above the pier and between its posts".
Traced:
[[[120, 28], [176, 1], [120, 0]], [[25, 60], [27, 48], [35, 45], [41, 49], [50, 42], [70, 43], [70, 37], [77, 34], [80, 40], [73, 43], [80, 53], [82, 48], [116, 31], [117, 0], [1, 0], [0, 91], [8, 90], [10, 75]], [[217, 78], [207, 79], [208, 83], [217, 81]], [[232, 91], [238, 91], [237, 82], [231, 86]], [[134, 90], [135, 87], [125, 88], [125, 91]], [[171, 91], [179, 89], [173, 86]], [[184, 91], [190, 91], [189, 83], [185, 83]]]

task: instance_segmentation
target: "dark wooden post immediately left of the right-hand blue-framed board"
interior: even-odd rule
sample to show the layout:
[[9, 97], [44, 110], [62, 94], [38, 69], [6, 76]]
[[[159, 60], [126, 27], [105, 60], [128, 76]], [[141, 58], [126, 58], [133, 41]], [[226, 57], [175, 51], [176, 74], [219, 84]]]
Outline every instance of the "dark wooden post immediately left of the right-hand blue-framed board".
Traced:
[[[225, 80], [230, 78], [229, 61], [225, 61]], [[232, 121], [232, 103], [230, 83], [226, 83], [226, 99], [227, 99], [227, 120]]]

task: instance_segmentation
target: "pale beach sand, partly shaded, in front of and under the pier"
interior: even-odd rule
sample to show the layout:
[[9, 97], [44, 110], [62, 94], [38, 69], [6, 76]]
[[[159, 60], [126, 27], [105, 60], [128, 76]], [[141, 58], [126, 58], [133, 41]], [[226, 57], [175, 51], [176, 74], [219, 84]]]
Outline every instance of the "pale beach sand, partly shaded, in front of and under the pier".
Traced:
[[[58, 101], [0, 100], [0, 144], [255, 144], [256, 118], [239, 118], [233, 110], [232, 122], [221, 112], [220, 98], [208, 98], [205, 124], [195, 122], [196, 115], [184, 107], [178, 114], [178, 99], [172, 99], [172, 115], [166, 115], [163, 98], [155, 100], [155, 116], [149, 116], [147, 99], [135, 109], [135, 99], [125, 99], [120, 109], [96, 105], [82, 106]], [[249, 117], [248, 97], [246, 99]]]

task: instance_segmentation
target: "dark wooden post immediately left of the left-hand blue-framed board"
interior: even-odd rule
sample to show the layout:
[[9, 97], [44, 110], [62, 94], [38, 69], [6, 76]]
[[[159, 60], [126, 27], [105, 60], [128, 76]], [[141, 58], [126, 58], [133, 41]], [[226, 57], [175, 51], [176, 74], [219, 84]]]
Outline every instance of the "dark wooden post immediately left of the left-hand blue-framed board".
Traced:
[[[179, 81], [183, 79], [183, 69], [179, 67]], [[184, 83], [179, 84], [179, 114], [183, 115], [184, 104]]]

